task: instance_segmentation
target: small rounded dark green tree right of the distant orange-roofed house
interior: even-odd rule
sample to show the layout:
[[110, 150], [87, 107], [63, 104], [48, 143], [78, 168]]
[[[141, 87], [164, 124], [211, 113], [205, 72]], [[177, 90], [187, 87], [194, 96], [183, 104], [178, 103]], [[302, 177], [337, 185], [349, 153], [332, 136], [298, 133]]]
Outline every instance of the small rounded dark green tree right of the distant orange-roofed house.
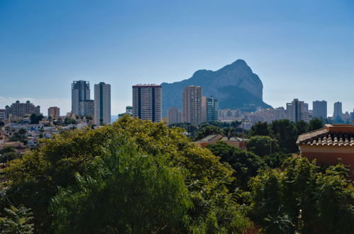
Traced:
[[260, 157], [270, 155], [279, 150], [278, 141], [266, 135], [255, 135], [248, 140], [248, 150]]

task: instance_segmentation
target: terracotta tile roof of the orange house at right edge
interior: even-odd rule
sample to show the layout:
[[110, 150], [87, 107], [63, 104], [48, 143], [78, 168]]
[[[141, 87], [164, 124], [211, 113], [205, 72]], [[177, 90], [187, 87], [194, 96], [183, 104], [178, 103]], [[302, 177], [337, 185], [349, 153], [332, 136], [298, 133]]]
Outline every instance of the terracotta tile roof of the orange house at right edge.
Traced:
[[333, 133], [321, 128], [299, 135], [297, 145], [354, 147], [354, 133]]

